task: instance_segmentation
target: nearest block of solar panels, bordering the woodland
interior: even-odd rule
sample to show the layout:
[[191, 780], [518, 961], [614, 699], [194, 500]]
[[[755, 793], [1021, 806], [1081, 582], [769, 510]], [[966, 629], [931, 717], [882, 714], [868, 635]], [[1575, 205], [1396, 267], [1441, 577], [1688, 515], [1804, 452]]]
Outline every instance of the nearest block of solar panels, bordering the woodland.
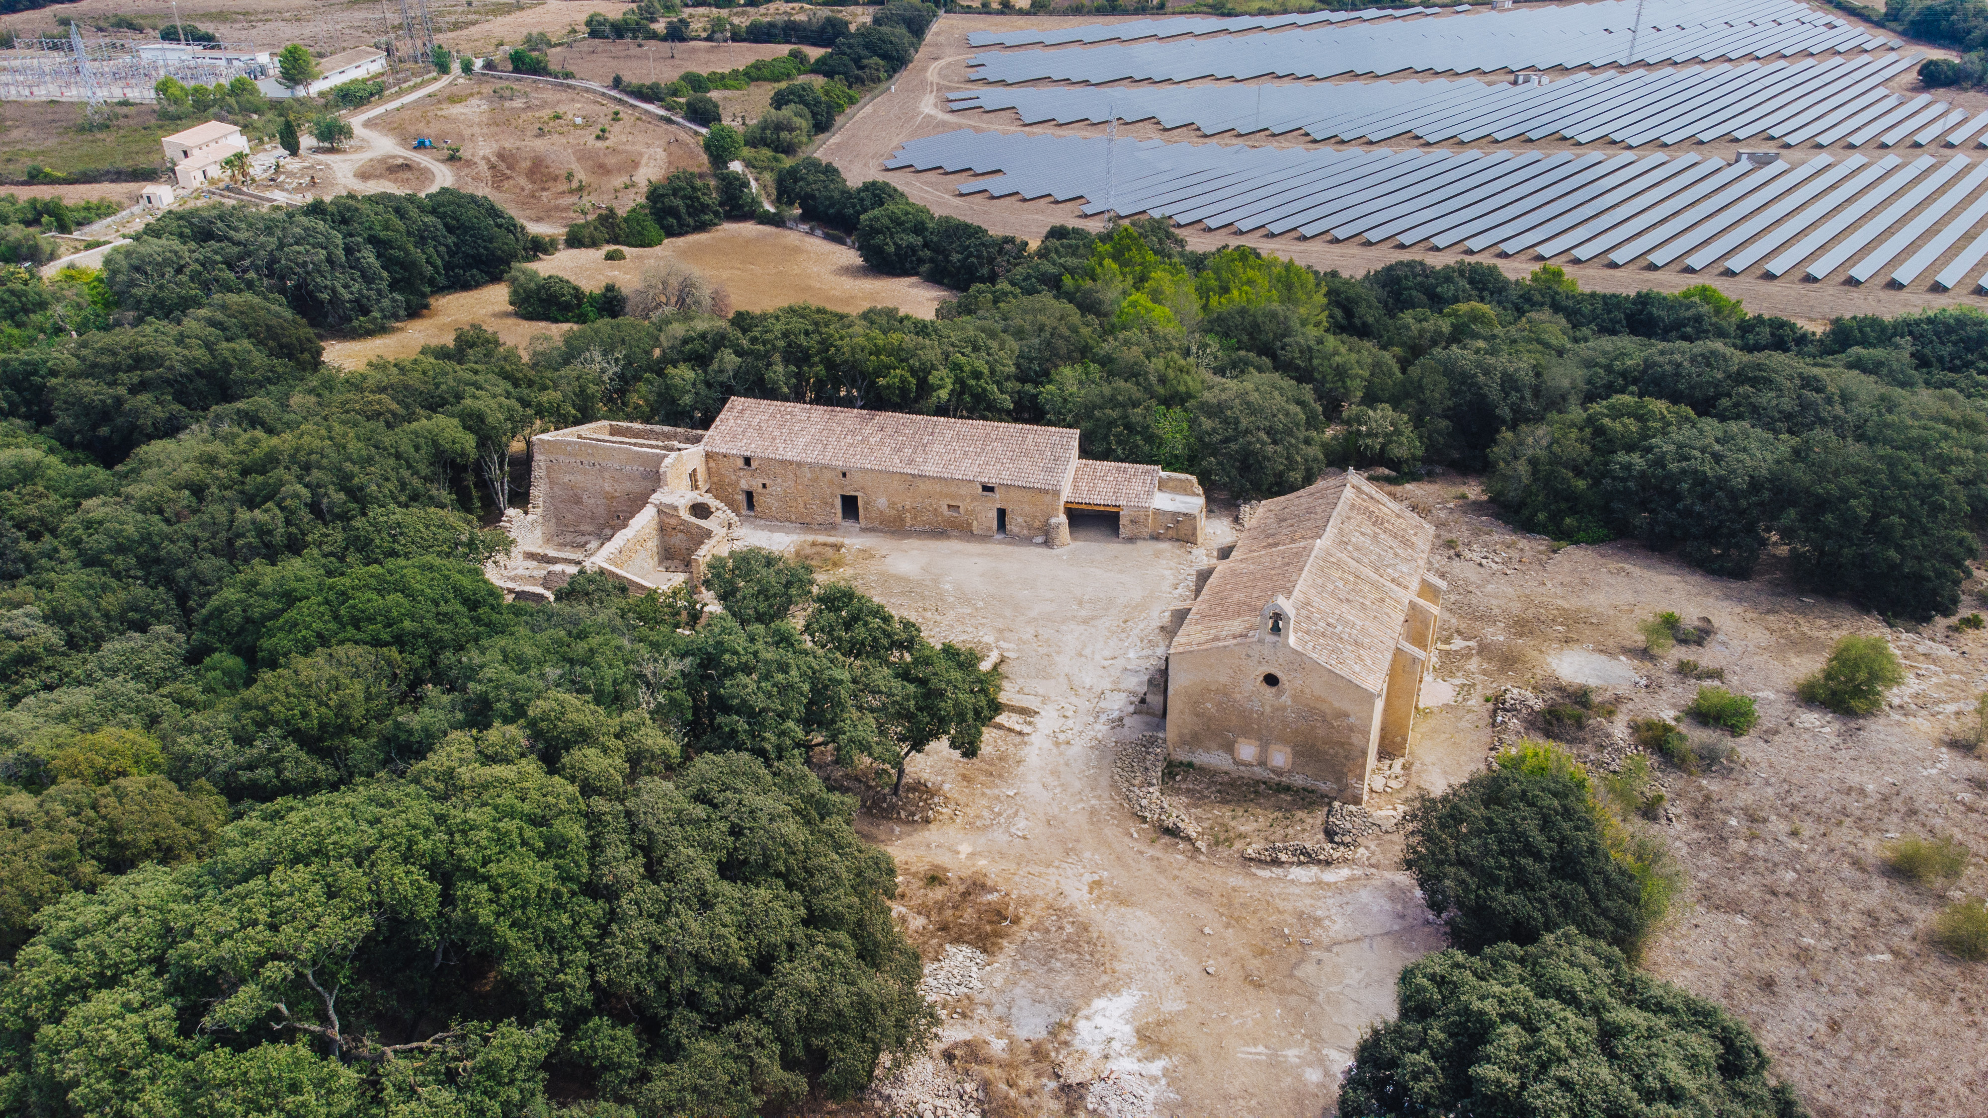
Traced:
[[[907, 141], [885, 167], [994, 175], [960, 193], [1085, 199], [1087, 215], [1147, 213], [1177, 225], [1404, 249], [1531, 251], [1650, 267], [1684, 261], [1686, 271], [1730, 275], [1767, 261], [1767, 277], [1801, 269], [1817, 280], [1855, 257], [1847, 271], [1855, 282], [1883, 277], [1910, 284], [1988, 221], [1988, 161], [1968, 155], [1726, 163], [1664, 153], [1244, 147], [960, 129]], [[1932, 282], [1962, 284], [1984, 255], [1988, 229]], [[1988, 288], [1988, 275], [1968, 286]]]

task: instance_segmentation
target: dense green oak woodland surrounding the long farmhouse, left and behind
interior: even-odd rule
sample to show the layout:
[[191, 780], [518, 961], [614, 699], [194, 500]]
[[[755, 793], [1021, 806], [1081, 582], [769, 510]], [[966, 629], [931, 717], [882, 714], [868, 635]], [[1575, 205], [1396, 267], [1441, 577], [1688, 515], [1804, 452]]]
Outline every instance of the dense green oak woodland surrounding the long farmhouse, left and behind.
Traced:
[[[1346, 279], [1151, 221], [1030, 249], [795, 167], [787, 201], [960, 298], [324, 366], [547, 249], [455, 191], [193, 209], [101, 273], [0, 277], [0, 1108], [753, 1114], [926, 1025], [891, 859], [805, 762], [972, 756], [998, 674], [761, 551], [714, 565], [718, 613], [598, 577], [503, 603], [481, 525], [537, 430], [746, 394], [1068, 424], [1235, 495], [1453, 466], [1557, 539], [1960, 601], [1988, 316], [1817, 336], [1710, 288]], [[1646, 997], [1608, 975], [1596, 1005]]]

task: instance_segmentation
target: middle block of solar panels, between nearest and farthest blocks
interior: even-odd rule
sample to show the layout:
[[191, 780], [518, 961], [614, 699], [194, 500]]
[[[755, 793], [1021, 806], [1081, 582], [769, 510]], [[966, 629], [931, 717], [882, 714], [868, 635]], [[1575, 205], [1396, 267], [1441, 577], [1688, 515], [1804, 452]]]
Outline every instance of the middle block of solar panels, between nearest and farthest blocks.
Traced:
[[[950, 93], [952, 109], [1014, 109], [1022, 123], [1157, 119], [1207, 135], [1304, 131], [1312, 139], [1427, 143], [1547, 139], [1672, 145], [1753, 139], [1887, 147], [1926, 143], [1960, 111], [1930, 95], [1901, 97], [1883, 86], [1920, 54], [1865, 54], [1827, 62], [1775, 62], [1688, 70], [1576, 74], [1551, 86], [1360, 82], [1334, 86], [1111, 86], [1010, 88]], [[1958, 123], [1958, 121], [1954, 121]], [[1924, 133], [1926, 139], [1918, 139]]]

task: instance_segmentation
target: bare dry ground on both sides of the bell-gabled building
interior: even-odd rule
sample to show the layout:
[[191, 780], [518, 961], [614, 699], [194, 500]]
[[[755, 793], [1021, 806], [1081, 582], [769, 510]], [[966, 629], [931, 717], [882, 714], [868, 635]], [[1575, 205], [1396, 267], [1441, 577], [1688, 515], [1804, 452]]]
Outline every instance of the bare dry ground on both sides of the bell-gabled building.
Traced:
[[[1843, 603], [1809, 601], [1775, 561], [1736, 583], [1634, 543], [1555, 553], [1499, 523], [1469, 477], [1394, 495], [1435, 525], [1431, 563], [1449, 591], [1439, 686], [1425, 688], [1439, 704], [1417, 716], [1408, 788], [1374, 806], [1475, 772], [1491, 742], [1483, 698], [1501, 686], [1592, 684], [1626, 724], [1690, 702], [1698, 684], [1676, 658], [1722, 668], [1726, 686], [1755, 696], [1761, 722], [1732, 740], [1738, 760], [1704, 776], [1652, 762], [1672, 822], [1650, 832], [1686, 891], [1646, 967], [1743, 1017], [1819, 1118], [1978, 1112], [1980, 969], [1930, 943], [1946, 895], [1893, 877], [1879, 847], [1956, 834], [1988, 851], [1988, 750], [1942, 744], [1988, 688], [1974, 664], [1988, 639], [1944, 625], [1889, 631]], [[1274, 869], [1242, 861], [1241, 841], [1203, 853], [1157, 836], [1113, 794], [1115, 742], [1157, 726], [1129, 710], [1163, 656], [1161, 621], [1187, 605], [1209, 551], [1103, 535], [1048, 551], [777, 525], [747, 533], [765, 547], [803, 539], [843, 549], [823, 579], [855, 583], [932, 639], [1000, 649], [1010, 694], [1040, 708], [1020, 724], [1004, 718], [1018, 732], [992, 728], [976, 760], [912, 760], [912, 778], [942, 798], [932, 822], [859, 818], [899, 859], [905, 917], [924, 935], [940, 883], [980, 875], [984, 895], [1006, 905], [1012, 927], [988, 945], [986, 989], [944, 1003], [942, 1040], [982, 1052], [960, 1066], [984, 1058], [1016, 1074], [1034, 1044], [1042, 1068], [1117, 1068], [1117, 1082], [1133, 1084], [1127, 1098], [1143, 1098], [1119, 1114], [1330, 1114], [1360, 1030], [1392, 1013], [1394, 977], [1441, 947], [1441, 931], [1398, 869], [1400, 834], [1370, 836], [1370, 857], [1354, 865]], [[1219, 541], [1211, 533], [1211, 547]], [[1644, 654], [1634, 623], [1664, 609], [1714, 619], [1714, 639], [1662, 660]], [[1877, 716], [1839, 718], [1793, 696], [1843, 633], [1889, 637], [1910, 670]], [[1252, 808], [1217, 790], [1193, 810], [1221, 836], [1274, 834], [1304, 808], [1262, 800]], [[1974, 859], [1946, 887], [1980, 895], [1988, 873]]]

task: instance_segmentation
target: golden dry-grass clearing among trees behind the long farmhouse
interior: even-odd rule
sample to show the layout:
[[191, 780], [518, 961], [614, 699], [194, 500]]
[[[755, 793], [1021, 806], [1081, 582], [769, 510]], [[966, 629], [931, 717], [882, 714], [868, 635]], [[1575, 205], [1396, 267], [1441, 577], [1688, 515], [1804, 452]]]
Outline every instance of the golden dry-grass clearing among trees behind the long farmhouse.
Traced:
[[[897, 306], [907, 314], [930, 318], [938, 302], [952, 292], [914, 277], [883, 277], [867, 267], [853, 249], [791, 229], [765, 225], [722, 225], [710, 233], [676, 237], [654, 249], [624, 249], [626, 261], [604, 261], [602, 249], [567, 249], [539, 261], [541, 273], [561, 275], [584, 288], [616, 282], [632, 288], [642, 269], [652, 261], [684, 261], [732, 294], [734, 310], [771, 310], [789, 302], [815, 302], [833, 310], [857, 312], [869, 306]], [[559, 322], [527, 322], [511, 312], [501, 282], [475, 290], [443, 294], [433, 304], [402, 322], [392, 334], [332, 342], [324, 356], [358, 368], [376, 356], [404, 358], [421, 346], [447, 344], [455, 330], [471, 322], [495, 330], [513, 346], [531, 342], [533, 334], [561, 334], [571, 326]]]

